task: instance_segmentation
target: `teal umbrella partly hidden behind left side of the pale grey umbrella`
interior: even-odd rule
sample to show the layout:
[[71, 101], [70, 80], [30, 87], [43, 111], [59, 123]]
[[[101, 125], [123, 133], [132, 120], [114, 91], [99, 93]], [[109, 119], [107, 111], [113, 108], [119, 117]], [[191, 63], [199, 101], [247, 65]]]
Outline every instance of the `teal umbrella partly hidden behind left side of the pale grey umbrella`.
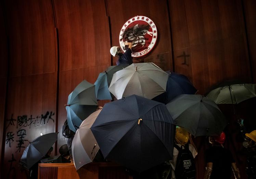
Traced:
[[95, 81], [95, 92], [96, 97], [99, 100], [104, 99], [112, 99], [112, 96], [108, 90], [108, 87], [111, 83], [113, 75], [115, 72], [124, 69], [125, 67], [129, 66], [128, 64], [121, 64], [118, 66], [110, 66], [105, 71], [101, 72], [98, 76], [98, 79]]

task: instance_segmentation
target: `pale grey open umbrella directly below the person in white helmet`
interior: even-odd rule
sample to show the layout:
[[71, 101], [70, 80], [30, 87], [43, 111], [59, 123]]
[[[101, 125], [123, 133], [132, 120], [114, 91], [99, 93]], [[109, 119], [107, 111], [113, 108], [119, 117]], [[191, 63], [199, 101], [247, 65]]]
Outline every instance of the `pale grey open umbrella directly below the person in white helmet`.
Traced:
[[168, 74], [153, 63], [131, 64], [113, 75], [109, 91], [117, 98], [133, 94], [152, 99], [166, 90]]

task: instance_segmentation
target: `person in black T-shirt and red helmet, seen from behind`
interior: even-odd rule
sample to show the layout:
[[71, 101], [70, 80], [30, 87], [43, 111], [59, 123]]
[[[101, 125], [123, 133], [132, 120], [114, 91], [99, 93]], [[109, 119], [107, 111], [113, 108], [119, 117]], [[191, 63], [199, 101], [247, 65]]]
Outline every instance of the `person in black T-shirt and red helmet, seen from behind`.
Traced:
[[213, 146], [206, 151], [207, 164], [204, 179], [228, 179], [232, 176], [232, 170], [235, 177], [240, 179], [239, 170], [231, 152], [222, 145], [225, 138], [223, 132], [220, 136], [209, 137], [209, 142]]

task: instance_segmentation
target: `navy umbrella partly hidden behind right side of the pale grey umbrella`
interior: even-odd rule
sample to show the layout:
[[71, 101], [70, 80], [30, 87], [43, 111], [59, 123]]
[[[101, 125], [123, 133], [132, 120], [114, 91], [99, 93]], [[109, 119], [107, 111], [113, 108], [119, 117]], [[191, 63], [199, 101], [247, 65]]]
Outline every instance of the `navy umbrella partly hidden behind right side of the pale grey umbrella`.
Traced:
[[169, 73], [169, 78], [166, 84], [166, 93], [158, 95], [157, 97], [153, 98], [153, 100], [167, 104], [176, 96], [181, 94], [194, 95], [197, 92], [196, 88], [185, 75], [170, 71], [166, 72]]

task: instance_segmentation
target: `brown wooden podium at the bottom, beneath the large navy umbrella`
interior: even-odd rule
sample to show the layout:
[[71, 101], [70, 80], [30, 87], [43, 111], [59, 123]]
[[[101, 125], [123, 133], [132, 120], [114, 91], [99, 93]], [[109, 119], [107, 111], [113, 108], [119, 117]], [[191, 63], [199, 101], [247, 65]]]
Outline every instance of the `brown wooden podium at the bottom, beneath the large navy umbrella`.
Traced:
[[38, 179], [132, 179], [126, 168], [115, 163], [89, 163], [78, 171], [73, 163], [40, 163]]

